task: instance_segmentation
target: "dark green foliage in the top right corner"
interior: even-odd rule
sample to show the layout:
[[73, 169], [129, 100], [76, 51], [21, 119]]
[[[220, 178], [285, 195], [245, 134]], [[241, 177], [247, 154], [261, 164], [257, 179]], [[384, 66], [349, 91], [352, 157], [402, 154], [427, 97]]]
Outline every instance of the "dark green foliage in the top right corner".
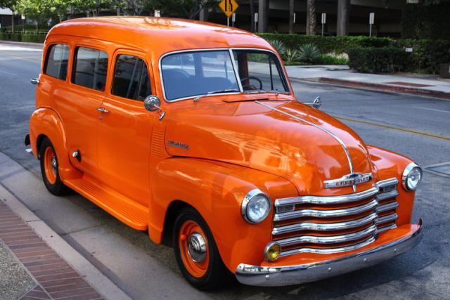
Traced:
[[401, 15], [401, 36], [406, 39], [450, 39], [450, 2], [408, 4]]

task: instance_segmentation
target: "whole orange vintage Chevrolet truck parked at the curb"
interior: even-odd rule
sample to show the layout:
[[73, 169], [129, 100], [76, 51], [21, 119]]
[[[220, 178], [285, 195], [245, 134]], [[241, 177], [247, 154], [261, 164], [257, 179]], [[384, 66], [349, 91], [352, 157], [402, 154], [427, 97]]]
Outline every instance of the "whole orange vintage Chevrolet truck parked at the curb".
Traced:
[[49, 32], [25, 144], [54, 195], [77, 191], [172, 244], [212, 289], [295, 285], [420, 241], [422, 170], [296, 100], [281, 58], [235, 28], [82, 18]]

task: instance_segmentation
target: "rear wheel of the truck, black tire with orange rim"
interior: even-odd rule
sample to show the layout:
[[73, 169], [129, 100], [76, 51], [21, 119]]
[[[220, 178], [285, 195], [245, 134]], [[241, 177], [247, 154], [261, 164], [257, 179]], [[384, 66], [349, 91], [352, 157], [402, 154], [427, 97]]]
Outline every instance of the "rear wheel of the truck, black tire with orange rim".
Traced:
[[64, 195], [68, 192], [68, 187], [64, 185], [58, 172], [58, 157], [55, 148], [49, 140], [45, 138], [39, 149], [41, 159], [41, 174], [44, 185], [50, 193], [56, 196]]

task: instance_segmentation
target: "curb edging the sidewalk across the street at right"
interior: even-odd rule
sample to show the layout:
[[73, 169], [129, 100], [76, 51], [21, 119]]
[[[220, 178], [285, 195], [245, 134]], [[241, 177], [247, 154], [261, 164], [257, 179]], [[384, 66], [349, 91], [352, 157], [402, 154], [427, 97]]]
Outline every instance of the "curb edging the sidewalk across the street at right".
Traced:
[[368, 82], [361, 82], [361, 81], [352, 81], [352, 80], [345, 80], [345, 79], [335, 79], [335, 78], [328, 78], [328, 77], [319, 77], [315, 79], [301, 79], [306, 81], [314, 81], [314, 82], [321, 82], [324, 84], [336, 84], [340, 86], [349, 86], [349, 87], [356, 87], [356, 88], [366, 88], [366, 89], [374, 89], [377, 91], [391, 91], [396, 93], [407, 93], [411, 95], [416, 96], [425, 96], [425, 97], [434, 97], [434, 98], [442, 98], [450, 100], [450, 93], [445, 93], [443, 91], [432, 91], [428, 89], [416, 89], [416, 88], [409, 88], [404, 86], [390, 86], [387, 84], [372, 84]]

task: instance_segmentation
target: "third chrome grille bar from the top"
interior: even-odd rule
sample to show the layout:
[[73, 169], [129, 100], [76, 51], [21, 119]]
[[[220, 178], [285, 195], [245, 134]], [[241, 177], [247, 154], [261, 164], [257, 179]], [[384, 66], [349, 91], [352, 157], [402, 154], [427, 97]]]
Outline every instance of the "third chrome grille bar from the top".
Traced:
[[[300, 230], [319, 230], [319, 231], [333, 231], [333, 230], [343, 230], [348, 228], [354, 228], [363, 226], [367, 223], [373, 222], [377, 219], [378, 215], [374, 212], [368, 216], [364, 216], [361, 219], [356, 219], [352, 221], [338, 222], [338, 223], [314, 223], [314, 222], [302, 222], [286, 226], [274, 227], [272, 230], [272, 235], [281, 235], [283, 233], [293, 233]], [[396, 217], [397, 219], [397, 217]]]

